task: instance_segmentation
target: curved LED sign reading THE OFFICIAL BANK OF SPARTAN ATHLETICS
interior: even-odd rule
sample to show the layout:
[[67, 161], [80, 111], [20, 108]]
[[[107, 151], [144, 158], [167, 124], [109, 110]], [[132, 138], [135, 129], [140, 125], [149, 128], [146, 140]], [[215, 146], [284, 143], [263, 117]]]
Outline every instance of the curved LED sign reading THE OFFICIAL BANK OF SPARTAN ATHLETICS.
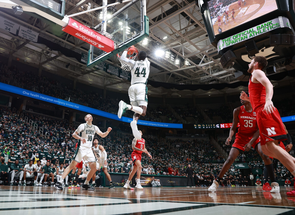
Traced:
[[290, 21], [288, 18], [278, 17], [278, 18], [272, 19], [268, 22], [262, 23], [253, 28], [250, 28], [248, 30], [235, 34], [231, 37], [225, 38], [223, 40], [219, 40], [217, 43], [218, 52], [236, 43], [245, 42], [245, 40], [254, 38], [257, 35], [266, 33], [276, 28], [283, 28], [283, 27], [288, 27], [291, 29]]

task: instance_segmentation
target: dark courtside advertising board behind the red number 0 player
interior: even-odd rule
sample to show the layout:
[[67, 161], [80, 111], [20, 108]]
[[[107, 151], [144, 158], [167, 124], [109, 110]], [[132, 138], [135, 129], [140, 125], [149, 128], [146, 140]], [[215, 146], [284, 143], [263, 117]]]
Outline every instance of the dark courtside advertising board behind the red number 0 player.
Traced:
[[[128, 173], [114, 173], [109, 172], [112, 178], [112, 182], [114, 186], [123, 187], [127, 182], [129, 177]], [[106, 179], [105, 175], [101, 173], [104, 177], [105, 186], [109, 186], [109, 181]], [[162, 186], [186, 186], [187, 177], [185, 176], [170, 176], [170, 175], [140, 175], [140, 184], [141, 186], [151, 187], [151, 178], [155, 176], [155, 179], [160, 179], [160, 184]]]

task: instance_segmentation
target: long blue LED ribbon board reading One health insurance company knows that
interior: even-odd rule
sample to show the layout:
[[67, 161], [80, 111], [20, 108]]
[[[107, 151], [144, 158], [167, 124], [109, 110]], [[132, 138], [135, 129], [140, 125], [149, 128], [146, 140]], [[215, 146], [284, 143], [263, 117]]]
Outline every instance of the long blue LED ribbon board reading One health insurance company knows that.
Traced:
[[[50, 102], [52, 104], [60, 105], [63, 107], [70, 107], [74, 110], [80, 110], [80, 111], [83, 111], [86, 113], [95, 114], [95, 115], [110, 118], [113, 120], [118, 120], [118, 121], [127, 122], [127, 123], [130, 123], [133, 120], [132, 118], [128, 118], [128, 117], [124, 117], [124, 116], [121, 119], [119, 119], [117, 114], [104, 112], [102, 110], [97, 110], [97, 109], [94, 109], [91, 107], [86, 107], [84, 105], [79, 105], [79, 104], [76, 104], [73, 102], [68, 102], [68, 101], [58, 99], [58, 98], [55, 98], [52, 96], [47, 96], [47, 95], [37, 93], [34, 91], [30, 91], [27, 89], [22, 89], [20, 87], [14, 87], [12, 85], [4, 84], [1, 82], [0, 82], [0, 90], [4, 90], [4, 91], [15, 93], [18, 95], [23, 95], [26, 97], [38, 99], [38, 100], [41, 100], [44, 102]], [[151, 121], [145, 121], [145, 120], [138, 120], [137, 125], [154, 126], [154, 127], [161, 127], [161, 128], [182, 128], [182, 124], [160, 123], [160, 122], [151, 122]]]

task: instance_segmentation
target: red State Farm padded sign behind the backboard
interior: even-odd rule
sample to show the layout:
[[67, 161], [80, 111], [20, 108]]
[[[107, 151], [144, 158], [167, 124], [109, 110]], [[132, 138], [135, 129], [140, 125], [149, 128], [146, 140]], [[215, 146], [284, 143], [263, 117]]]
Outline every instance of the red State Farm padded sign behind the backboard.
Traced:
[[92, 30], [86, 25], [81, 24], [75, 19], [70, 18], [68, 25], [66, 27], [63, 27], [62, 30], [105, 52], [111, 52], [115, 49], [115, 43], [113, 40], [97, 33], [96, 31]]

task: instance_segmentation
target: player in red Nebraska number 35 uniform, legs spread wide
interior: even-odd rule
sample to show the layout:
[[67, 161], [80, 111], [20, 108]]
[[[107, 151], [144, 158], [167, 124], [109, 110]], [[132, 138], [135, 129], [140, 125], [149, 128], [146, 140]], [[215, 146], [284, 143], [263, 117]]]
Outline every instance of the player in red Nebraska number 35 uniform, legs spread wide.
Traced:
[[227, 138], [225, 144], [229, 145], [234, 135], [238, 122], [240, 123], [239, 131], [236, 134], [235, 142], [232, 144], [230, 154], [223, 164], [217, 178], [213, 180], [212, 185], [208, 188], [209, 191], [214, 192], [219, 186], [220, 180], [235, 161], [237, 156], [243, 151], [249, 151], [251, 146], [256, 149], [265, 163], [265, 167], [271, 178], [271, 186], [269, 183], [263, 185], [263, 191], [271, 191], [272, 193], [279, 193], [280, 188], [276, 183], [275, 174], [273, 171], [273, 163], [271, 159], [263, 154], [260, 146], [259, 130], [256, 121], [256, 113], [253, 111], [251, 103], [241, 100], [242, 106], [235, 108], [233, 113], [232, 127], [230, 128], [230, 136]]

